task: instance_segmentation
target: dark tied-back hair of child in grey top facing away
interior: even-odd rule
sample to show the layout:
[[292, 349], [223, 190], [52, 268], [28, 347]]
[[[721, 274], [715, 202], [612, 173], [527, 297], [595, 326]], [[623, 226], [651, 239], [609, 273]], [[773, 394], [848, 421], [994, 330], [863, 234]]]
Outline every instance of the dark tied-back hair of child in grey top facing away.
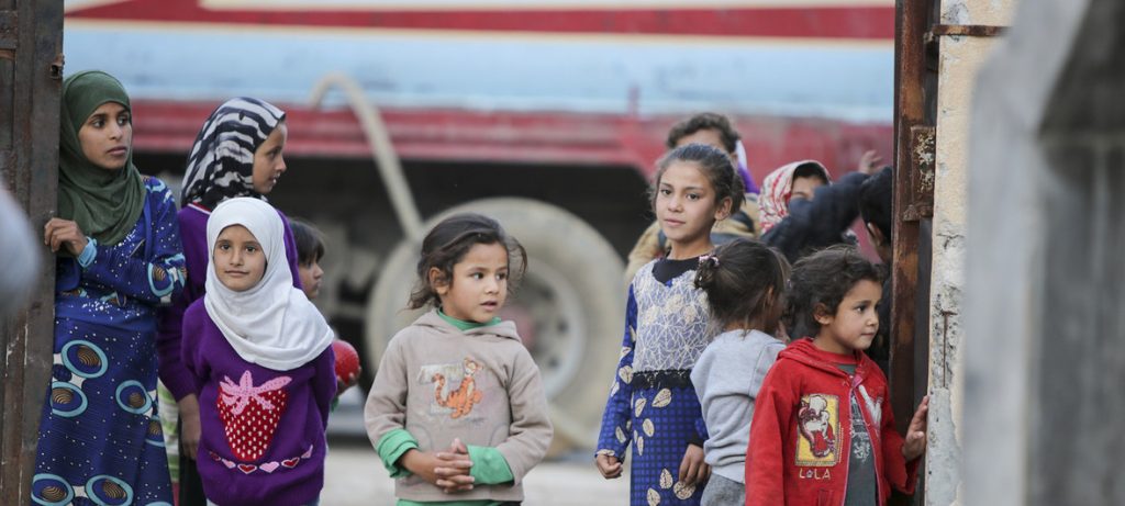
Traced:
[[757, 324], [766, 334], [777, 332], [784, 309], [789, 262], [759, 241], [740, 237], [701, 256], [695, 287], [706, 292], [711, 322]]

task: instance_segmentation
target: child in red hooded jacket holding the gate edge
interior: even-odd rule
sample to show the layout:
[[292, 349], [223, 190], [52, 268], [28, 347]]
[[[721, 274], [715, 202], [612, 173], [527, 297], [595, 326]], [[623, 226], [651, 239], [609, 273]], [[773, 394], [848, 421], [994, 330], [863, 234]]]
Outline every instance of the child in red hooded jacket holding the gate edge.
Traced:
[[786, 324], [818, 328], [766, 374], [746, 458], [746, 504], [882, 505], [912, 494], [926, 451], [924, 398], [903, 442], [886, 378], [863, 353], [879, 329], [881, 272], [854, 247], [802, 259], [790, 279]]

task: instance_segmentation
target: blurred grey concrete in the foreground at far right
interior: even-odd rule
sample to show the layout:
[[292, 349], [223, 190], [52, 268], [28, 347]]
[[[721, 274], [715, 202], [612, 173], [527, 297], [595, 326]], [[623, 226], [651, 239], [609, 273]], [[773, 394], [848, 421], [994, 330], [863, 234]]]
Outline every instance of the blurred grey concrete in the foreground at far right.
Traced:
[[966, 504], [1125, 504], [1125, 3], [1024, 0], [981, 73]]

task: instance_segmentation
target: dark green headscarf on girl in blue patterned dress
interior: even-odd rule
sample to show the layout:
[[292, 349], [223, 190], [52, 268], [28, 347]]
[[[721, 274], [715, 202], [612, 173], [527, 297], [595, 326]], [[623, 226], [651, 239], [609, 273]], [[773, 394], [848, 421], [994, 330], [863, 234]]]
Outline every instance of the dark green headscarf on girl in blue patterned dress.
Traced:
[[129, 108], [120, 81], [101, 71], [79, 72], [63, 81], [58, 126], [58, 217], [78, 223], [99, 244], [119, 243], [144, 208], [144, 179], [133, 165], [133, 146], [120, 170], [108, 171], [82, 153], [78, 132], [102, 103]]

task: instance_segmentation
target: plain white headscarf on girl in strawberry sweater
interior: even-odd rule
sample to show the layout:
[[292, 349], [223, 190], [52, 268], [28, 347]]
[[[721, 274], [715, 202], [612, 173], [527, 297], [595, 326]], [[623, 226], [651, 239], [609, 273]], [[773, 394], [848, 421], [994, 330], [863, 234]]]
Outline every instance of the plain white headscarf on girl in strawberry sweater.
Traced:
[[[245, 291], [226, 288], [215, 273], [215, 243], [231, 225], [246, 227], [266, 254], [266, 273]], [[238, 356], [276, 371], [299, 368], [332, 344], [321, 311], [292, 286], [284, 237], [281, 216], [255, 198], [224, 200], [207, 219], [207, 315]]]

